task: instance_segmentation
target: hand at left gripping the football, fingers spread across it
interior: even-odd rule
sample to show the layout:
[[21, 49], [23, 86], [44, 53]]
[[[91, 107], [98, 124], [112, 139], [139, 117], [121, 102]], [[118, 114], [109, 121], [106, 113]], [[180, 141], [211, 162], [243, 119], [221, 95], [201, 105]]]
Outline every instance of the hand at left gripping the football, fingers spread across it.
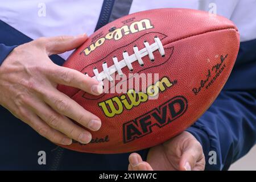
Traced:
[[75, 49], [86, 39], [85, 34], [39, 38], [16, 47], [0, 67], [0, 104], [54, 143], [90, 142], [90, 132], [71, 119], [92, 131], [101, 127], [100, 118], [56, 89], [63, 84], [98, 95], [103, 90], [99, 82], [48, 57]]

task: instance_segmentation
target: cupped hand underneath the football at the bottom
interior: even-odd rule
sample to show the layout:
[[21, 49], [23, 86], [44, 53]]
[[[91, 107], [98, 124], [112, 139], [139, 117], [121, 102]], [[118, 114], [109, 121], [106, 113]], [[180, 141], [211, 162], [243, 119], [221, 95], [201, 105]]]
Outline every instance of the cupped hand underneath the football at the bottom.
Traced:
[[184, 131], [158, 146], [150, 148], [147, 162], [139, 154], [129, 156], [129, 171], [197, 171], [204, 170], [205, 158], [201, 144], [191, 133]]

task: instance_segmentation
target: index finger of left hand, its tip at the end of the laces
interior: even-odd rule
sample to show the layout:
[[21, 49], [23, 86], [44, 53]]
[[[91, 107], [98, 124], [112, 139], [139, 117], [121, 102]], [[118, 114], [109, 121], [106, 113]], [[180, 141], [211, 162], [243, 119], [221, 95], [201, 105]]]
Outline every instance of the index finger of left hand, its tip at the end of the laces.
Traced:
[[75, 69], [60, 67], [58, 65], [49, 68], [49, 79], [57, 84], [72, 86], [84, 90], [93, 95], [100, 95], [103, 86], [96, 79], [86, 76]]

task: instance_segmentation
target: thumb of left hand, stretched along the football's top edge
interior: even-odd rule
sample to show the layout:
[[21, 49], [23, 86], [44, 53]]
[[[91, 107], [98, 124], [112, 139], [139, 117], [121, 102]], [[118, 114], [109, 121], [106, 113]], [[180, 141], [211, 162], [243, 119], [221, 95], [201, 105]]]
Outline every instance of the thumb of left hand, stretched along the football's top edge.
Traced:
[[78, 36], [54, 36], [44, 39], [44, 45], [46, 46], [47, 55], [53, 55], [57, 53], [63, 53], [71, 51], [85, 42], [87, 39], [86, 34]]

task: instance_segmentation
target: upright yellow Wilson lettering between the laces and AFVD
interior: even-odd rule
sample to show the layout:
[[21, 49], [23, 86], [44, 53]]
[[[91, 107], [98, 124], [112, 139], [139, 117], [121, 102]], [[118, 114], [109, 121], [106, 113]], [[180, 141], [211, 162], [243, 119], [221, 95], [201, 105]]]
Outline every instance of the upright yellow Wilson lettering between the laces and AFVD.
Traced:
[[107, 117], [114, 117], [116, 114], [121, 114], [123, 109], [130, 110], [135, 106], [139, 106], [142, 102], [146, 102], [148, 97], [155, 97], [160, 92], [164, 92], [167, 88], [174, 85], [173, 82], [163, 77], [162, 80], [157, 81], [154, 85], [147, 87], [146, 93], [136, 93], [134, 89], [127, 91], [127, 94], [110, 98], [109, 100], [98, 103], [98, 106], [104, 111]]

